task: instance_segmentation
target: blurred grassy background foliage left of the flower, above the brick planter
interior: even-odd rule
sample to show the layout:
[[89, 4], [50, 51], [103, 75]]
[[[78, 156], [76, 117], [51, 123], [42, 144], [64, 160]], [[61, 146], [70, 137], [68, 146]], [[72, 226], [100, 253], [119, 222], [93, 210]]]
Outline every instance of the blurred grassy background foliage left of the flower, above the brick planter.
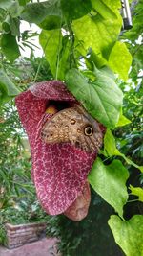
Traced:
[[[4, 64], [21, 91], [30, 86], [35, 76], [36, 81], [51, 80], [45, 58], [34, 58], [31, 54], [31, 58], [21, 58], [12, 65]], [[6, 222], [42, 221], [46, 215], [36, 198], [31, 180], [30, 146], [14, 100], [0, 107], [0, 152], [0, 244], [4, 244]]]

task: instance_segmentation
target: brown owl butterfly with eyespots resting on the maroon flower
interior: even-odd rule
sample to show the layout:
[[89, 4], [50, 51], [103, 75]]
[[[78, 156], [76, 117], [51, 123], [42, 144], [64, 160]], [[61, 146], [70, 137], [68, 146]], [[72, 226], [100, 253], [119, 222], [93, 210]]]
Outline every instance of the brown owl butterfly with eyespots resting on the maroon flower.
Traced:
[[88, 152], [101, 147], [102, 137], [99, 124], [80, 105], [58, 111], [41, 129], [41, 139], [46, 143], [70, 142]]

